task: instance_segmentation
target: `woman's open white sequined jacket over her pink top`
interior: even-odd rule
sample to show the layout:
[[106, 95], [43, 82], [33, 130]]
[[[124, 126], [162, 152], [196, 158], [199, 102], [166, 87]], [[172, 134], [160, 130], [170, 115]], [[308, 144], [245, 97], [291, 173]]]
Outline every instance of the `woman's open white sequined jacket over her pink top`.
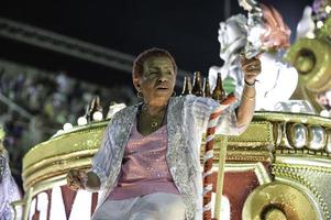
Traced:
[[[186, 96], [172, 98], [167, 109], [168, 146], [166, 160], [173, 179], [186, 205], [186, 219], [202, 218], [202, 176], [200, 145], [210, 113], [218, 102], [209, 98]], [[117, 184], [124, 148], [134, 124], [139, 105], [122, 109], [112, 118], [103, 143], [92, 158], [91, 170], [101, 182], [103, 194], [99, 206]], [[236, 127], [234, 106], [230, 106], [219, 120], [217, 132], [238, 135], [245, 128]]]

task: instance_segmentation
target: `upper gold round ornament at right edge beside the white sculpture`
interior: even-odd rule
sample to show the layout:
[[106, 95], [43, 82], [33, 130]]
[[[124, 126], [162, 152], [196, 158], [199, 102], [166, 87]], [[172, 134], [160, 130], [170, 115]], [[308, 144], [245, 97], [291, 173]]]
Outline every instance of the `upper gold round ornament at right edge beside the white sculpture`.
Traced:
[[322, 108], [316, 101], [316, 95], [331, 88], [331, 46], [324, 40], [330, 37], [330, 18], [319, 38], [298, 40], [285, 55], [285, 59], [299, 73], [299, 82], [293, 98], [309, 100], [317, 111]]

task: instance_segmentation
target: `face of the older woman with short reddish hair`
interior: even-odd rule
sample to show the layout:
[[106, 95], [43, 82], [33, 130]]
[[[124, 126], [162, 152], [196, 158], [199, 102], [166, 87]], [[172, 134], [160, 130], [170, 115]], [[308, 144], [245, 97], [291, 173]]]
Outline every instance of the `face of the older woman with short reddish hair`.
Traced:
[[176, 73], [168, 57], [150, 57], [143, 64], [143, 75], [136, 88], [151, 106], [166, 105], [174, 92]]

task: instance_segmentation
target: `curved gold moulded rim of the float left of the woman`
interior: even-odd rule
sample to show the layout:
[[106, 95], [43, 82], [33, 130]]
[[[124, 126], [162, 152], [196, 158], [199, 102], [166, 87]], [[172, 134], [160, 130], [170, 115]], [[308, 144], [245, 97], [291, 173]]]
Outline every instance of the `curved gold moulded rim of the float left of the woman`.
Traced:
[[24, 188], [64, 174], [69, 168], [89, 167], [107, 124], [108, 121], [103, 121], [79, 127], [30, 150], [23, 157]]

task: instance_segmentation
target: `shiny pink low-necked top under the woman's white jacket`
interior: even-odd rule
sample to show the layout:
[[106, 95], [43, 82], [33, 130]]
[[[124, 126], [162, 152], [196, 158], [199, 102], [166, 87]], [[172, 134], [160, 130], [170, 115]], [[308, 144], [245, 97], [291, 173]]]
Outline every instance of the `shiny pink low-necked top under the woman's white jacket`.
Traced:
[[108, 199], [121, 200], [153, 193], [180, 195], [166, 162], [166, 125], [144, 136], [133, 127], [124, 151], [118, 185]]

